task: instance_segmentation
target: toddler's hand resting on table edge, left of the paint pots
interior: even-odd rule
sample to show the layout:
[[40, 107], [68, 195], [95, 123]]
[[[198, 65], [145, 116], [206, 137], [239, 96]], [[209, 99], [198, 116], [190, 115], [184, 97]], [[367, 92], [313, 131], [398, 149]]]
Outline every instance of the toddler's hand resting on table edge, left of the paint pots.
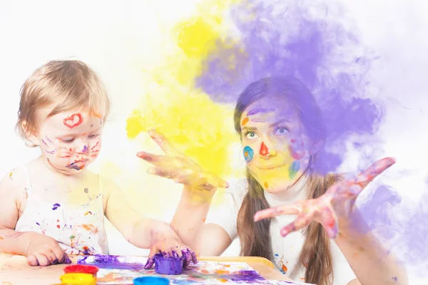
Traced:
[[44, 234], [31, 234], [31, 242], [29, 242], [26, 250], [27, 261], [31, 266], [71, 263], [67, 254], [61, 249], [55, 239]]

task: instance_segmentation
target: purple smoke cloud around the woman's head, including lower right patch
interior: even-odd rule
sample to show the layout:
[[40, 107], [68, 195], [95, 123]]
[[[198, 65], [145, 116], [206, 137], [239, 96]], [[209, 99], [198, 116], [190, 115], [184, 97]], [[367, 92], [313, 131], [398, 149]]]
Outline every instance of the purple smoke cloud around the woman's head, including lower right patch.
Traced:
[[[233, 48], [232, 38], [228, 44], [219, 42], [203, 63], [197, 86], [215, 102], [234, 104], [253, 81], [295, 76], [314, 93], [326, 126], [315, 170], [334, 172], [349, 148], [358, 152], [357, 168], [367, 167], [383, 155], [376, 132], [384, 108], [371, 98], [365, 77], [377, 58], [365, 56], [357, 29], [347, 25], [345, 11], [332, 1], [266, 2], [250, 0], [230, 9], [240, 41]], [[361, 212], [400, 259], [427, 272], [427, 195], [420, 201], [410, 207], [398, 192], [382, 185], [361, 203]]]

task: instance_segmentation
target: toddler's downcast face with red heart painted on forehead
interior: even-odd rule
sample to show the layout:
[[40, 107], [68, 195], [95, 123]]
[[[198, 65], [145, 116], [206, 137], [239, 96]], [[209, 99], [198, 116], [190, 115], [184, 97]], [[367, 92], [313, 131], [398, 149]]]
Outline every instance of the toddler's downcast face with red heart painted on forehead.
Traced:
[[46, 165], [65, 175], [82, 172], [101, 150], [103, 118], [104, 114], [70, 111], [44, 120], [37, 140]]

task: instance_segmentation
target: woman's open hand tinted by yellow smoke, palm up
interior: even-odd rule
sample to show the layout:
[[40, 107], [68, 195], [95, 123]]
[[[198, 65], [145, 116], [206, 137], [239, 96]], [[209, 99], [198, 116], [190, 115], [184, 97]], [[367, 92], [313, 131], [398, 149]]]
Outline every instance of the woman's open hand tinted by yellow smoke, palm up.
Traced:
[[228, 182], [203, 170], [196, 162], [173, 147], [162, 133], [149, 130], [148, 134], [162, 148], [165, 155], [153, 155], [138, 152], [138, 157], [150, 162], [153, 167], [148, 173], [173, 179], [175, 182], [188, 186], [193, 197], [210, 199], [218, 187], [228, 187]]

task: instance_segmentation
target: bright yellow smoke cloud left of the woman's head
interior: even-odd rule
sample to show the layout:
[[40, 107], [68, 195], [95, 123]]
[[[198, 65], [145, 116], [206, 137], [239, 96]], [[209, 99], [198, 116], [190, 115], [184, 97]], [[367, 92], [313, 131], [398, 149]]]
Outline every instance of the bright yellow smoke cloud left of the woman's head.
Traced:
[[230, 145], [239, 142], [233, 130], [232, 105], [213, 103], [195, 88], [203, 60], [225, 45], [223, 14], [235, 1], [205, 1], [198, 15], [173, 28], [176, 48], [161, 66], [144, 70], [147, 86], [139, 108], [126, 124], [128, 138], [151, 128], [161, 131], [185, 155], [220, 177], [239, 175], [231, 167]]

